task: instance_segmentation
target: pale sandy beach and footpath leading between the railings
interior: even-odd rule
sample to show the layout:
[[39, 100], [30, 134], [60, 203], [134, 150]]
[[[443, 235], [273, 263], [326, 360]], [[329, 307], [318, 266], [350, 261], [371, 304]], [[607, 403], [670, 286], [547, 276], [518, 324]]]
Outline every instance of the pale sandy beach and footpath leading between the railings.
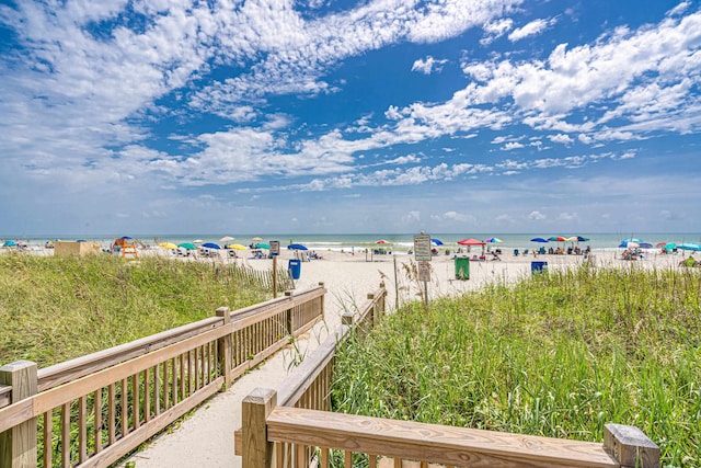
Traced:
[[[169, 254], [166, 251], [150, 254]], [[245, 252], [242, 252], [245, 254]], [[321, 260], [301, 263], [300, 277], [296, 282], [299, 290], [323, 283], [327, 288], [324, 322], [319, 323], [304, 339], [299, 340], [298, 350], [302, 354], [312, 352], [320, 342], [341, 323], [341, 316], [353, 310], [354, 304], [360, 304], [378, 288], [381, 282], [388, 289], [388, 309], [392, 310], [397, 298], [400, 301], [417, 299], [423, 283], [406, 277], [405, 269], [413, 256], [407, 254], [374, 255], [364, 253], [324, 251]], [[149, 254], [149, 253], [147, 253]], [[171, 254], [172, 255], [172, 254]], [[278, 264], [287, 266], [290, 252], [283, 252]], [[648, 255], [635, 262], [620, 260], [620, 252], [594, 251], [595, 265], [602, 267], [676, 267], [685, 255]], [[371, 260], [371, 261], [370, 261]], [[203, 261], [237, 262], [254, 269], [266, 270], [271, 260], [228, 259], [223, 252], [217, 259]], [[514, 256], [503, 254], [501, 261], [470, 262], [470, 278], [455, 278], [455, 260], [450, 255], [437, 255], [432, 261], [432, 281], [428, 283], [428, 298], [457, 295], [479, 288], [493, 282], [513, 282], [531, 274], [531, 262], [548, 262], [548, 269], [566, 269], [584, 261], [582, 255], [539, 255]], [[395, 267], [397, 265], [397, 267]], [[397, 274], [394, 273], [397, 270]], [[240, 467], [241, 460], [233, 455], [233, 432], [241, 423], [241, 401], [255, 388], [275, 388], [289, 372], [292, 351], [287, 350], [268, 359], [258, 369], [253, 370], [231, 388], [206, 402], [194, 414], [185, 419], [169, 433], [153, 440], [148, 446], [134, 454], [128, 460], [136, 461], [139, 468], [147, 467]]]

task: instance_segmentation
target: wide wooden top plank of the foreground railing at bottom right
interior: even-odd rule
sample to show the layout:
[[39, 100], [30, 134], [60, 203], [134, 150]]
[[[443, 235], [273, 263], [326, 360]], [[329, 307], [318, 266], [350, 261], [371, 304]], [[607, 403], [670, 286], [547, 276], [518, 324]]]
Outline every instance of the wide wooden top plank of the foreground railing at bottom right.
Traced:
[[269, 414], [267, 437], [444, 465], [619, 467], [602, 444], [288, 407]]

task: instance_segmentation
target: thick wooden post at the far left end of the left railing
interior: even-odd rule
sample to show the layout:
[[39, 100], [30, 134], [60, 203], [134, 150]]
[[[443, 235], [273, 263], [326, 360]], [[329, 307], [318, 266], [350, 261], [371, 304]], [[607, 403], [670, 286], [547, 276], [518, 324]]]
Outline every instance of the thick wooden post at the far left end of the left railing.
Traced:
[[[37, 366], [31, 361], [16, 361], [0, 367], [0, 385], [12, 387], [12, 403], [37, 393]], [[35, 468], [36, 418], [0, 434], [0, 467]]]

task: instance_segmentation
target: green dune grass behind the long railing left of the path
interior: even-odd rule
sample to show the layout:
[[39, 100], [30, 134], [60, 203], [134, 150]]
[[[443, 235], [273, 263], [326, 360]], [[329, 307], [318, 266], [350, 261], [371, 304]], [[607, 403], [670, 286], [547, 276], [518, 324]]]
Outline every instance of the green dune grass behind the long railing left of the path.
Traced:
[[235, 265], [0, 255], [0, 365], [45, 367], [272, 297]]

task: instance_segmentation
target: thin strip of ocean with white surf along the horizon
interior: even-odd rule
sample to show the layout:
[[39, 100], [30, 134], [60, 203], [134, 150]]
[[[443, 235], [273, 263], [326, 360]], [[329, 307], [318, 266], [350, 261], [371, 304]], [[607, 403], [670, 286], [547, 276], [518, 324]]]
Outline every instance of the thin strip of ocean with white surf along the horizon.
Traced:
[[[203, 242], [215, 242], [219, 244], [230, 244], [230, 243], [240, 243], [243, 246], [249, 246], [254, 243], [253, 238], [263, 239], [262, 242], [269, 242], [272, 240], [277, 240], [280, 243], [280, 248], [285, 248], [289, 243], [301, 243], [306, 246], [309, 250], [357, 250], [361, 251], [363, 249], [368, 248], [377, 248], [383, 247], [387, 250], [394, 250], [397, 252], [406, 252], [412, 249], [414, 246], [414, 236], [416, 233], [260, 233], [260, 235], [237, 235], [237, 233], [160, 233], [160, 235], [129, 235], [127, 236], [137, 239], [141, 244], [149, 244], [152, 247], [158, 246], [160, 242], [193, 242], [193, 241], [203, 241]], [[432, 239], [437, 239], [443, 242], [443, 246], [437, 247], [438, 249], [457, 249], [459, 246], [457, 242], [461, 239], [466, 238], [474, 238], [480, 240], [485, 240], [489, 238], [497, 238], [502, 242], [492, 243], [492, 248], [498, 249], [532, 249], [533, 247], [541, 246], [554, 246], [558, 244], [563, 246], [563, 242], [550, 242], [549, 244], [531, 242], [530, 239], [536, 237], [549, 238], [553, 236], [552, 233], [498, 233], [498, 232], [481, 232], [481, 233], [433, 233], [430, 235]], [[221, 239], [225, 236], [233, 237], [233, 241], [221, 242]], [[560, 236], [560, 235], [554, 235]], [[636, 238], [641, 239], [644, 242], [648, 242], [653, 246], [656, 246], [659, 242], [692, 242], [692, 243], [701, 243], [701, 233], [699, 232], [567, 232], [562, 235], [563, 237], [572, 237], [572, 236], [582, 236], [588, 238], [589, 241], [579, 242], [581, 248], [586, 248], [587, 246], [591, 249], [616, 249], [621, 243], [623, 239], [627, 238]], [[96, 241], [100, 242], [103, 247], [110, 247], [112, 241], [120, 237], [118, 236], [85, 236], [81, 237], [79, 235], [76, 236], [53, 236], [53, 235], [43, 235], [43, 236], [30, 236], [30, 237], [13, 237], [5, 236], [0, 237], [0, 241], [4, 242], [7, 240], [21, 240], [30, 243], [31, 246], [44, 246], [44, 243], [48, 240], [79, 240], [84, 239], [87, 241]], [[378, 243], [379, 240], [384, 240], [387, 243], [380, 246]], [[261, 242], [261, 241], [258, 241]], [[1, 246], [1, 243], [0, 243]], [[223, 246], [222, 246], [223, 247]]]

